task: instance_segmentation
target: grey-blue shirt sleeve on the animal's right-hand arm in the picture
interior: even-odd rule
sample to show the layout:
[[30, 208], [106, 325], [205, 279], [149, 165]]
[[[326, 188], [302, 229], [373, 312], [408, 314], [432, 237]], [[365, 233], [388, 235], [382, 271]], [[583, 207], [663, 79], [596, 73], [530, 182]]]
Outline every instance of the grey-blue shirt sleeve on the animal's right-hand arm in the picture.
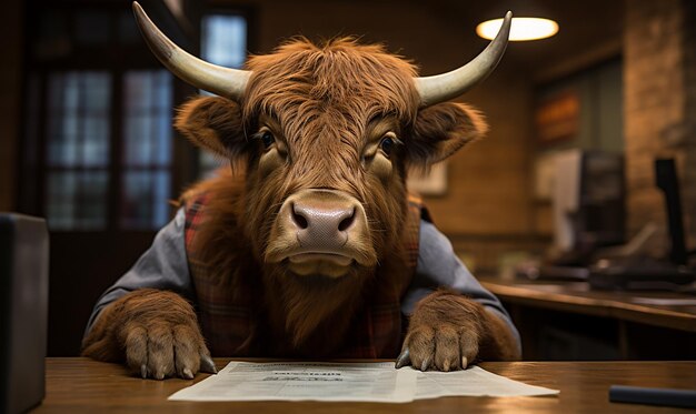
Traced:
[[500, 301], [474, 277], [469, 270], [455, 254], [449, 240], [427, 221], [420, 221], [418, 264], [404, 301], [401, 312], [410, 315], [416, 303], [440, 286], [447, 286], [471, 297], [474, 301], [503, 319], [517, 340], [521, 350], [519, 333]]

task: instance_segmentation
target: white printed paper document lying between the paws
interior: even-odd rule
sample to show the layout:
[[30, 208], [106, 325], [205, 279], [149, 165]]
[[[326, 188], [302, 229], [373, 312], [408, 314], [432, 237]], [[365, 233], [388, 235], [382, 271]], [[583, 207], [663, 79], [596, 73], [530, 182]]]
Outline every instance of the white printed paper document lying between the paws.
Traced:
[[421, 373], [379, 363], [230, 362], [183, 388], [173, 401], [345, 401], [407, 403], [449, 395], [536, 396], [556, 390], [527, 385], [480, 367]]

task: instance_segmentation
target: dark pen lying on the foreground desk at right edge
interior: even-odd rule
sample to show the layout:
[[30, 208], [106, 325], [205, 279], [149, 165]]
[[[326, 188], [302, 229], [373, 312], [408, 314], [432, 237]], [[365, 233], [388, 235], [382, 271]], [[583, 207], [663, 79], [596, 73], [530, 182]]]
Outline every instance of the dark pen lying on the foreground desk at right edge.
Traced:
[[648, 388], [643, 386], [612, 385], [609, 401], [613, 403], [634, 403], [668, 405], [696, 408], [696, 390]]

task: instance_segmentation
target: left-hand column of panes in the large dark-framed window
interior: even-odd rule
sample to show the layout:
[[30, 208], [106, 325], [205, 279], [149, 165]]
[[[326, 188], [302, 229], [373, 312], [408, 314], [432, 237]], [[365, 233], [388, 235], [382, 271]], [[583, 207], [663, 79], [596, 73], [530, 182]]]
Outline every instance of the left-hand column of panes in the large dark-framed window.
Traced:
[[110, 87], [108, 72], [49, 75], [47, 219], [52, 230], [106, 226]]

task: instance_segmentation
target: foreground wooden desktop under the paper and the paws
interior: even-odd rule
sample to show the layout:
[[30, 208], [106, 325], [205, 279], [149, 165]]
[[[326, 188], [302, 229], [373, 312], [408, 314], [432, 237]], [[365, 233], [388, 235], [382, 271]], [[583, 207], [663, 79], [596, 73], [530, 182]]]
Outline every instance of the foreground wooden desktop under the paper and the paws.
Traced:
[[[216, 359], [219, 368], [228, 359]], [[663, 413], [685, 410], [608, 402], [613, 384], [694, 388], [696, 362], [514, 362], [484, 363], [494, 373], [528, 384], [560, 390], [553, 397], [444, 397], [409, 404], [245, 402], [170, 402], [173, 392], [201, 381], [141, 380], [121, 365], [87, 359], [48, 359], [47, 395], [33, 413]]]

